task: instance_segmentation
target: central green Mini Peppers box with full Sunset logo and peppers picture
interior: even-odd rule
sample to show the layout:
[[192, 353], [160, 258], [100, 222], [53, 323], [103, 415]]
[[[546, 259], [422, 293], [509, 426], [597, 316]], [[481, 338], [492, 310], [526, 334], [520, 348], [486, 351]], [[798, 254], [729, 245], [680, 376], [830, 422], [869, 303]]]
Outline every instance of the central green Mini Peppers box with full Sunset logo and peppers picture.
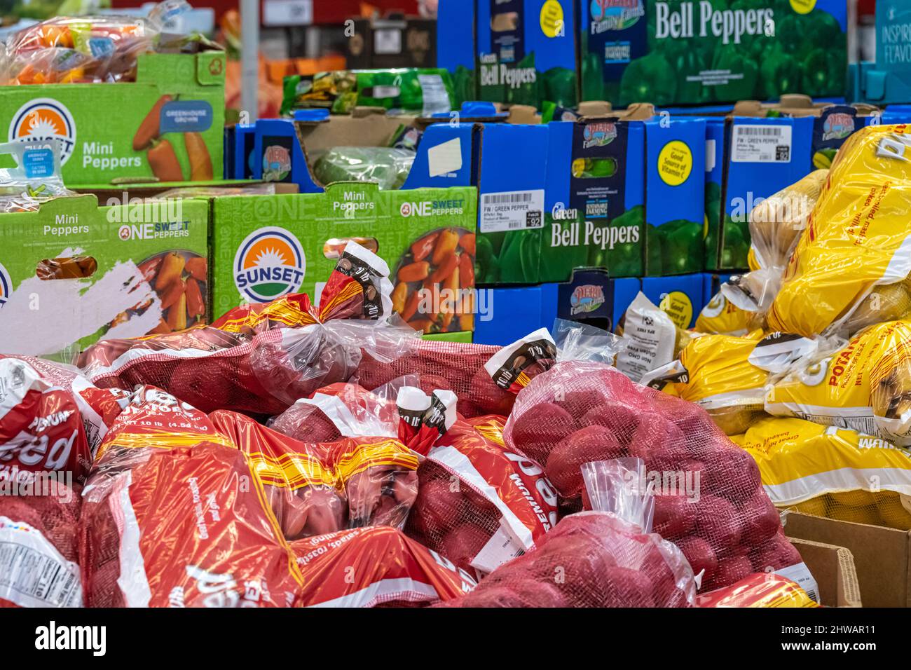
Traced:
[[[318, 302], [345, 243], [354, 239], [388, 263], [394, 308], [415, 328], [473, 330], [470, 304], [466, 317], [445, 317], [439, 301], [447, 288], [452, 295], [474, 288], [474, 187], [380, 191], [375, 183], [343, 181], [322, 193], [230, 196], [211, 204], [216, 314], [290, 293]], [[448, 246], [437, 254], [440, 242]], [[447, 270], [450, 255], [455, 269]], [[421, 288], [436, 290], [422, 294]]]

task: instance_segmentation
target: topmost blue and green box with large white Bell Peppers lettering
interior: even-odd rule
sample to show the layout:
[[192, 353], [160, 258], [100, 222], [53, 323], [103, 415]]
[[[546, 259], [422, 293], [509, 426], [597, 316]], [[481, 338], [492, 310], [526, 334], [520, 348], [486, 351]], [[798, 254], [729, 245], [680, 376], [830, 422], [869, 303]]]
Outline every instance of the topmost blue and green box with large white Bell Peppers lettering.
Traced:
[[710, 105], [793, 91], [844, 96], [845, 0], [580, 5], [582, 99], [625, 106]]

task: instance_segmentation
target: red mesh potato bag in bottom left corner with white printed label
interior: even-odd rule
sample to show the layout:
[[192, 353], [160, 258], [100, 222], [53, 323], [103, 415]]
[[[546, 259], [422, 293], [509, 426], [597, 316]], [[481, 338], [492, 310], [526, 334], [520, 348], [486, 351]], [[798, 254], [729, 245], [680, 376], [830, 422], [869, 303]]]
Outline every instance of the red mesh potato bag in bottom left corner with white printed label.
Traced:
[[0, 607], [83, 605], [79, 487], [56, 479], [43, 485], [0, 496]]

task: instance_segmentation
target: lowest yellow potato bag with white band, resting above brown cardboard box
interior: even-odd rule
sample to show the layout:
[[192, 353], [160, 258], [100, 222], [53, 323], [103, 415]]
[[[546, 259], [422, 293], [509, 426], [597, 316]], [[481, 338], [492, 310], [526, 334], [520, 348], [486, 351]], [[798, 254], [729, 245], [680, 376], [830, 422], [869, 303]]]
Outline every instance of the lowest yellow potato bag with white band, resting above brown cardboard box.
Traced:
[[882, 438], [800, 418], [764, 418], [732, 440], [782, 509], [911, 530], [911, 456]]

